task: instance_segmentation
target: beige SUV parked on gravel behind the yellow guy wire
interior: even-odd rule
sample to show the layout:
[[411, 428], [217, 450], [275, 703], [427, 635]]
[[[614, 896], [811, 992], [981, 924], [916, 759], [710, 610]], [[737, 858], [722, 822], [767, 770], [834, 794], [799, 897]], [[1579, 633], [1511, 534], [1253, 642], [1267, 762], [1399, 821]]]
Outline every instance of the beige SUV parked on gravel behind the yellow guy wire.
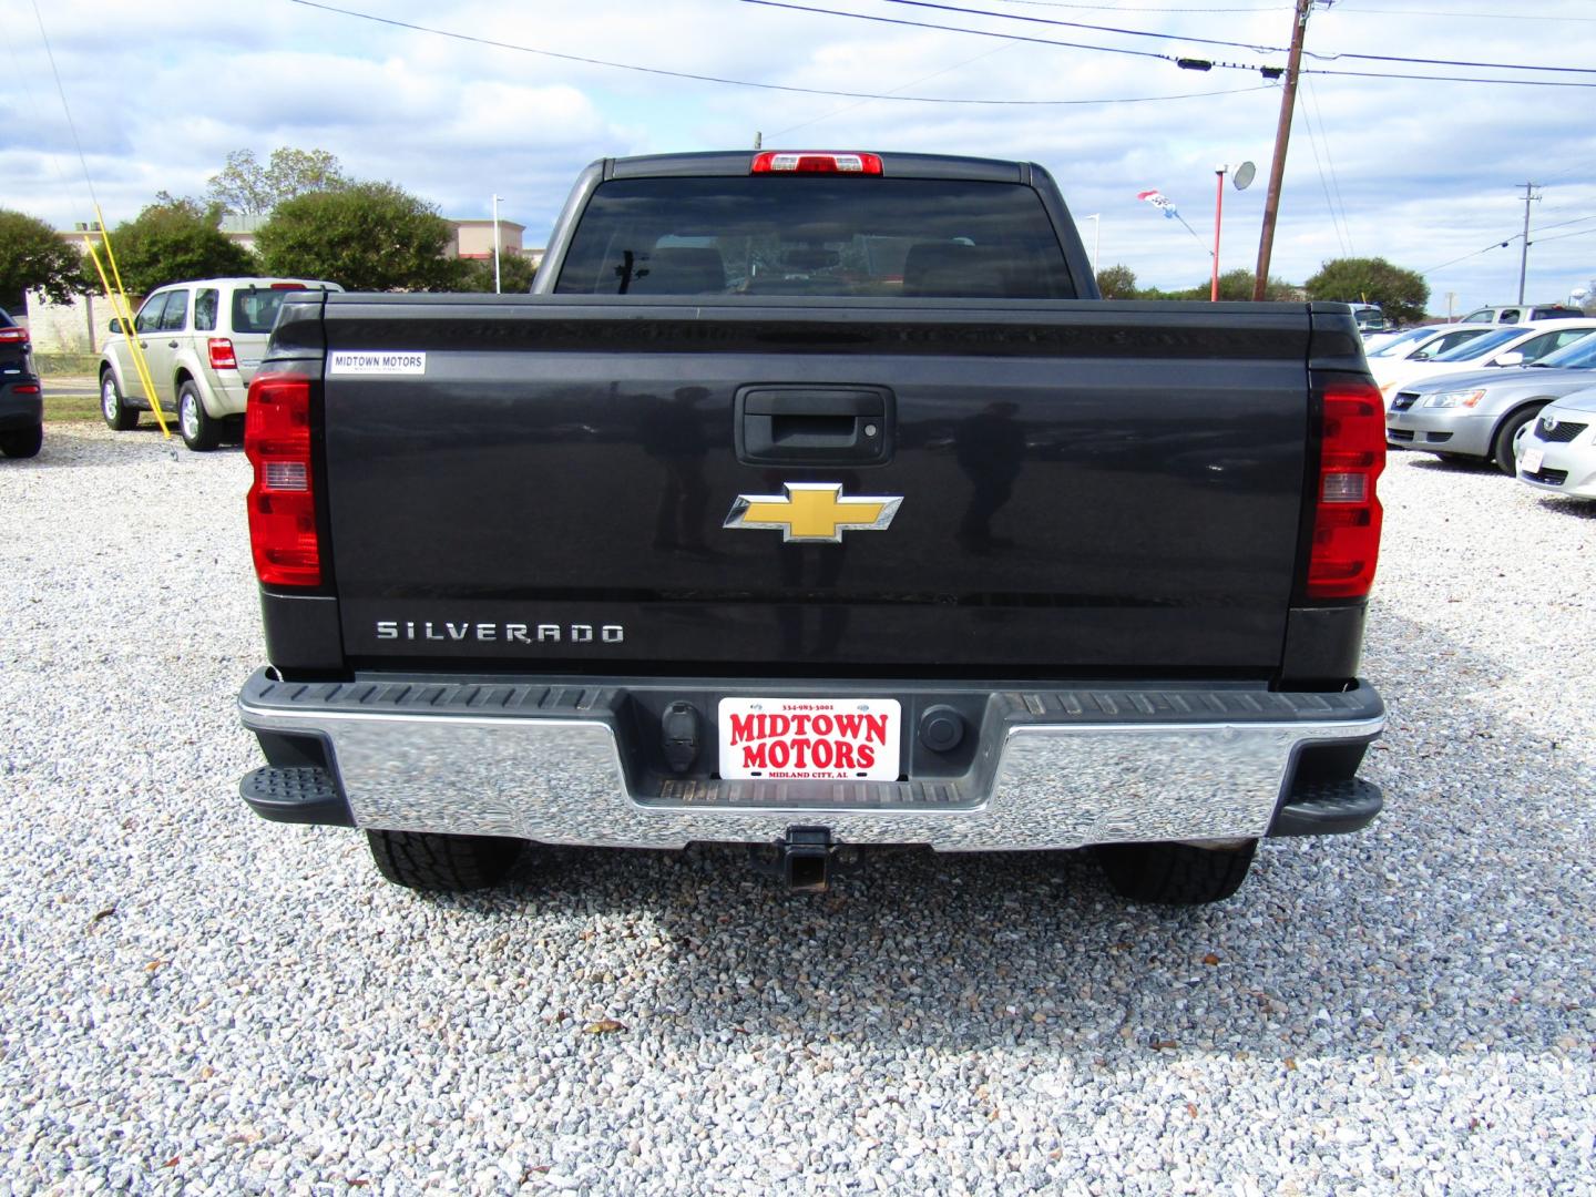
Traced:
[[[176, 412], [190, 448], [215, 448], [225, 423], [241, 423], [249, 380], [267, 351], [282, 297], [295, 290], [343, 290], [337, 282], [286, 278], [211, 278], [150, 294], [132, 334], [163, 412]], [[152, 410], [121, 321], [101, 354], [101, 413], [118, 433]]]

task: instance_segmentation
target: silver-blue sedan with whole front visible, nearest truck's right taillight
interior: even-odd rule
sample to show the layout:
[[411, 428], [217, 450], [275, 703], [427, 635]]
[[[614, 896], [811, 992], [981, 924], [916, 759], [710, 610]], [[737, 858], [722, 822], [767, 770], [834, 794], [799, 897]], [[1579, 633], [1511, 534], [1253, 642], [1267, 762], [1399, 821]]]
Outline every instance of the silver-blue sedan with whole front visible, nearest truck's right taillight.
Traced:
[[1515, 474], [1513, 439], [1553, 399], [1596, 381], [1596, 337], [1516, 370], [1448, 373], [1396, 391], [1385, 412], [1389, 444], [1449, 458], [1495, 461]]

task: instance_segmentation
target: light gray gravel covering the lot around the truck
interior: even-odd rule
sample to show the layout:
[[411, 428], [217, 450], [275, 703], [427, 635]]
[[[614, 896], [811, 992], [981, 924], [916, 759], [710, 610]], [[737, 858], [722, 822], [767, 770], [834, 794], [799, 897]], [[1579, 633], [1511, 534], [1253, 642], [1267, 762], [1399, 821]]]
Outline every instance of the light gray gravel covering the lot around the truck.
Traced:
[[428, 900], [235, 795], [246, 474], [0, 461], [0, 1192], [1596, 1192], [1596, 504], [1392, 460], [1387, 812], [1221, 907], [725, 851]]

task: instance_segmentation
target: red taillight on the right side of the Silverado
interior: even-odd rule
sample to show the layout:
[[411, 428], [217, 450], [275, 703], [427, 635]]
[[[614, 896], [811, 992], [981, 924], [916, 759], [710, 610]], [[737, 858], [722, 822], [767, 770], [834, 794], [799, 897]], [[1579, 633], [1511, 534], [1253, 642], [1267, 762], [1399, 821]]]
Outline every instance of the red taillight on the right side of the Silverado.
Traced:
[[1325, 388], [1309, 598], [1361, 598], [1381, 555], [1381, 501], [1374, 480], [1385, 468], [1385, 404], [1371, 383]]

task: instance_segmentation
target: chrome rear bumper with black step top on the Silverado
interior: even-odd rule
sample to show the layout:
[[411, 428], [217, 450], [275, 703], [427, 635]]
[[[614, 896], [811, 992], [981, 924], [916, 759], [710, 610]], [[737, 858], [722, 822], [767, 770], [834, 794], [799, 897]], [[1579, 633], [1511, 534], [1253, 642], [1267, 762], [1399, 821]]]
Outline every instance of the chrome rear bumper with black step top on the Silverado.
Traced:
[[[646, 685], [670, 688], [664, 680]], [[835, 694], [843, 686], [779, 688]], [[702, 693], [705, 683], [681, 689]], [[899, 693], [891, 683], [868, 689]], [[629, 689], [616, 685], [284, 683], [260, 670], [244, 686], [239, 712], [255, 733], [319, 741], [351, 822], [365, 828], [669, 849], [761, 843], [793, 825], [824, 825], [844, 844], [956, 852], [1262, 836], [1304, 750], [1368, 744], [1385, 723], [1379, 696], [1361, 683], [1333, 694], [982, 694], [980, 742], [966, 772], [899, 782], [648, 774], [629, 742]]]

